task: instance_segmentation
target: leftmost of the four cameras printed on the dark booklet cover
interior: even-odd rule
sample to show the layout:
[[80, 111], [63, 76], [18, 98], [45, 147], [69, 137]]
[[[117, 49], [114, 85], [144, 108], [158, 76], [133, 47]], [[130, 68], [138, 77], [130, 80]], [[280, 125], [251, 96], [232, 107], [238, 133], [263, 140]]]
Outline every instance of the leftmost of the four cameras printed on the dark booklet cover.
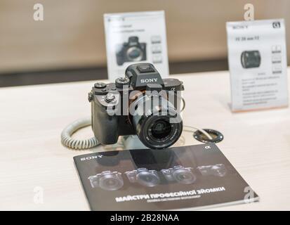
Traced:
[[123, 178], [119, 172], [104, 171], [95, 176], [88, 176], [92, 188], [100, 187], [106, 191], [115, 191], [124, 185]]

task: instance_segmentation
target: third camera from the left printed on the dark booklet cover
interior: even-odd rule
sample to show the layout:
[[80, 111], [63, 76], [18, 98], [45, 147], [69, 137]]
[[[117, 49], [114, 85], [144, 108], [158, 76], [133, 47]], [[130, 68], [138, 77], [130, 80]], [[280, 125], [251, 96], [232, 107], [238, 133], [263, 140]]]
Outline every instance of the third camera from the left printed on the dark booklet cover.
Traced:
[[162, 174], [169, 182], [178, 182], [180, 184], [193, 184], [197, 180], [197, 176], [192, 172], [191, 167], [174, 166], [169, 169], [162, 169]]

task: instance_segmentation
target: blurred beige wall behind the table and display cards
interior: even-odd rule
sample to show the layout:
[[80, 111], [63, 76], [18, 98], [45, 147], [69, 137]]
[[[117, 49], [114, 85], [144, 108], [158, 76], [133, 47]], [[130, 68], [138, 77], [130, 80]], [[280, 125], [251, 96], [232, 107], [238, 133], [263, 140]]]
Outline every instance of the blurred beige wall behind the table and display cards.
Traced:
[[[33, 20], [36, 3], [44, 21]], [[165, 11], [170, 63], [226, 60], [225, 22], [244, 20], [246, 3], [256, 20], [284, 18], [290, 46], [287, 0], [1, 0], [0, 74], [104, 68], [103, 13], [130, 11]]]

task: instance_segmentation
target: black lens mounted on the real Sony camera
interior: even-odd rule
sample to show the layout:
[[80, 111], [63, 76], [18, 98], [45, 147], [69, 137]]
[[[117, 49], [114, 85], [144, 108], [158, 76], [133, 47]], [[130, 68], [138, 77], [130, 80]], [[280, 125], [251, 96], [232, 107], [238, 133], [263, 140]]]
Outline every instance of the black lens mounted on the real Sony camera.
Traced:
[[[147, 101], [150, 102], [150, 99], [144, 96], [133, 115], [136, 134], [147, 148], [168, 148], [176, 143], [181, 135], [183, 130], [181, 117], [168, 101], [159, 102], [156, 105]], [[151, 105], [151, 108], [144, 108], [143, 103]]]

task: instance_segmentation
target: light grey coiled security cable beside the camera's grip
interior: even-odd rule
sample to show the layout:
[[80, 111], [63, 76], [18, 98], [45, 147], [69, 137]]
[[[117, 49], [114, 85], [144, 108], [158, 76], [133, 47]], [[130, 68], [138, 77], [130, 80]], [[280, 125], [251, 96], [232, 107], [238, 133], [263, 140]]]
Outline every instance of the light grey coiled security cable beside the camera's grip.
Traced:
[[95, 139], [95, 137], [85, 140], [77, 140], [72, 138], [72, 134], [74, 134], [75, 131], [88, 126], [91, 126], [91, 117], [76, 120], [69, 124], [67, 127], [65, 127], [65, 129], [63, 129], [61, 133], [62, 145], [74, 150], [83, 150], [98, 146], [100, 143], [97, 139]]

